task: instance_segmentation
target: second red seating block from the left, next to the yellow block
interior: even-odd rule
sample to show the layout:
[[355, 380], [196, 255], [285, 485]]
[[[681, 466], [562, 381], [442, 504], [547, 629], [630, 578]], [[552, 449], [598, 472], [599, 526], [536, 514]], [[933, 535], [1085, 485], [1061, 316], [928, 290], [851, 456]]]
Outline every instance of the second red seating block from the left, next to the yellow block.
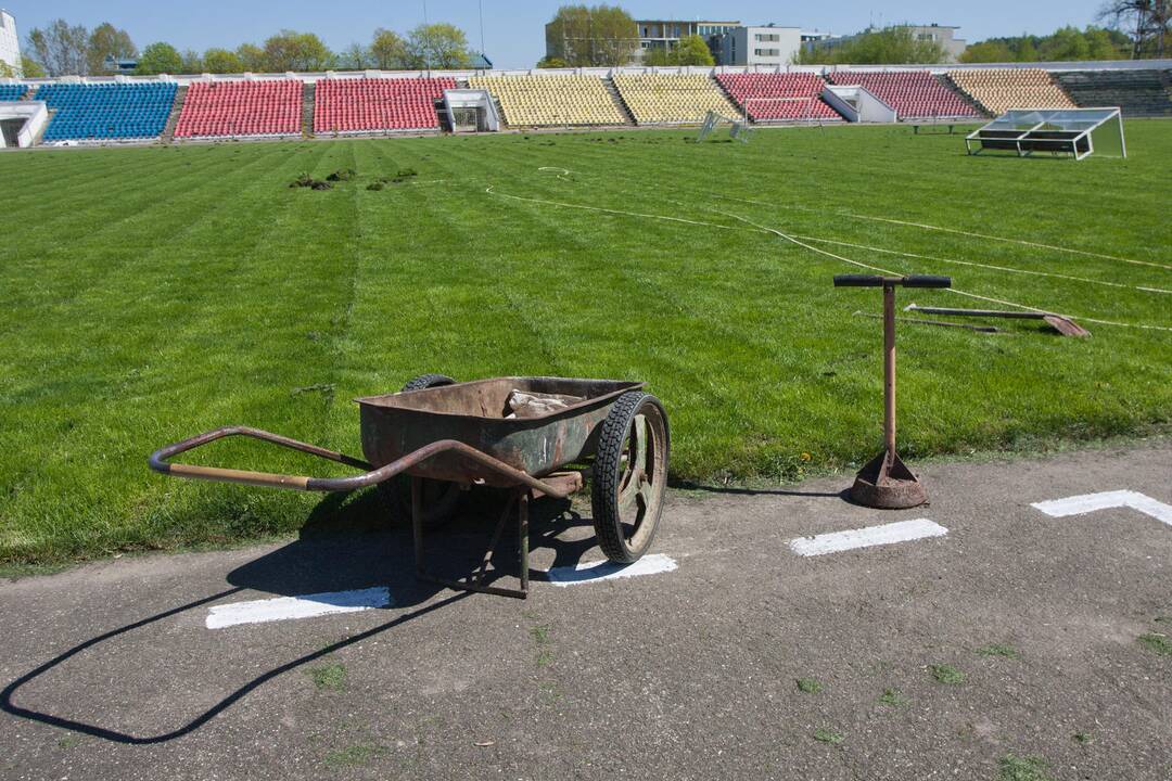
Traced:
[[436, 101], [455, 88], [455, 78], [325, 78], [316, 87], [313, 130], [438, 130]]

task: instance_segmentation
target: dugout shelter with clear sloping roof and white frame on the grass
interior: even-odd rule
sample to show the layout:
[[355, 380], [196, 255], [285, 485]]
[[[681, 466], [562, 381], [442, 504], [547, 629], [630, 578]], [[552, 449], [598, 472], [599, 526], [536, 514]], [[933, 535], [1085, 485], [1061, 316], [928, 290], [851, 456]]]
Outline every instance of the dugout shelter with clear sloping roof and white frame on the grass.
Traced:
[[965, 137], [969, 155], [984, 150], [1069, 153], [1081, 160], [1095, 152], [1127, 157], [1123, 114], [1103, 109], [1014, 109]]

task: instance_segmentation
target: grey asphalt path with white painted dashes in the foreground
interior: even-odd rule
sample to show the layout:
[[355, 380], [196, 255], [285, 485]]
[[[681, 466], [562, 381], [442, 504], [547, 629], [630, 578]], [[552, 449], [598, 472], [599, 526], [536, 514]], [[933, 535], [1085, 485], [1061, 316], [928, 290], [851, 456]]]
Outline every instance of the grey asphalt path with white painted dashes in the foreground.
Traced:
[[675, 491], [626, 573], [545, 501], [526, 601], [313, 526], [4, 582], [0, 777], [1172, 779], [1172, 443], [922, 478]]

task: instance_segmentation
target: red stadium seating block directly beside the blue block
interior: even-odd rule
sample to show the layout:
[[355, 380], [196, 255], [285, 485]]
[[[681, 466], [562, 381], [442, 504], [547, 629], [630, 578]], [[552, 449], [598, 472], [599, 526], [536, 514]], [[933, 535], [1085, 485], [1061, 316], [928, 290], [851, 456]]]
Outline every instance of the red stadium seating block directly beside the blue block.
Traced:
[[294, 136], [301, 132], [301, 82], [195, 82], [176, 138]]

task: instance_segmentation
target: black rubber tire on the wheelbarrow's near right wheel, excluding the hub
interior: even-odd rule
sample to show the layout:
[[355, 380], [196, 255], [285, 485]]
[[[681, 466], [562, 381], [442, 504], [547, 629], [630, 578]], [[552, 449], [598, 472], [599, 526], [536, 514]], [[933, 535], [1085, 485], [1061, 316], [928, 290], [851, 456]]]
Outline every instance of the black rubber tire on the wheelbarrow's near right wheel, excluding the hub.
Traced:
[[[622, 518], [619, 513], [619, 487], [622, 481], [622, 452], [627, 441], [627, 432], [640, 410], [654, 406], [663, 423], [663, 461], [656, 463], [654, 471], [663, 485], [659, 488], [659, 501], [652, 512], [640, 522], [641, 543], [632, 547], [624, 533]], [[667, 466], [672, 452], [672, 437], [663, 404], [642, 391], [629, 391], [619, 397], [611, 407], [611, 413], [599, 431], [598, 450], [594, 457], [594, 474], [591, 482], [591, 506], [594, 515], [594, 534], [598, 546], [613, 562], [629, 564], [642, 557], [650, 548], [663, 509], [663, 488], [667, 481]], [[649, 528], [647, 528], [649, 525]]]

